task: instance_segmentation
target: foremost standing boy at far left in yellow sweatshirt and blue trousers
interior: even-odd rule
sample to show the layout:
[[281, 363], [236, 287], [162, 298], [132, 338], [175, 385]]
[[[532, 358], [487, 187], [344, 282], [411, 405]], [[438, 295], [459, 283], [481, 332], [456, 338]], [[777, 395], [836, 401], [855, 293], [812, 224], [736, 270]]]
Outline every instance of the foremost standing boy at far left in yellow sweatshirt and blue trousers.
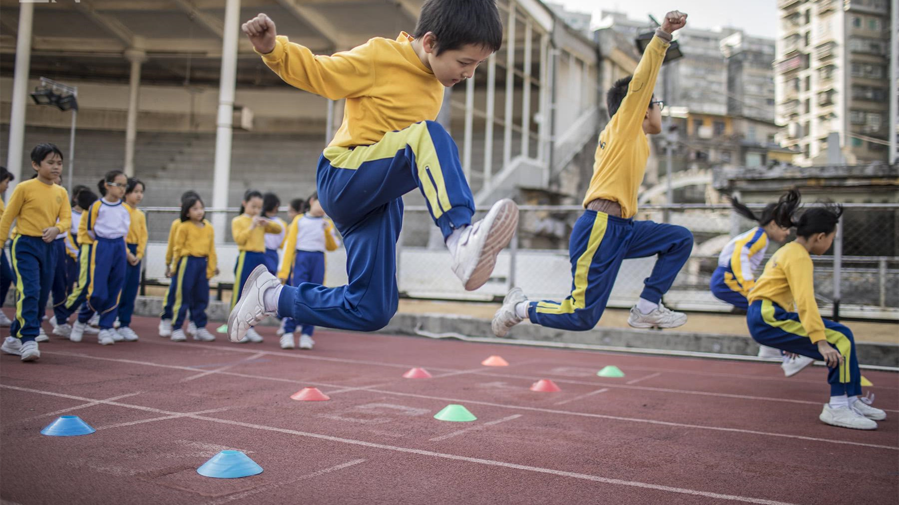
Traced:
[[[56, 265], [54, 241], [66, 233], [72, 210], [65, 188], [54, 183], [62, 173], [62, 152], [52, 144], [40, 144], [31, 150], [31, 167], [37, 177], [20, 183], [9, 198], [0, 218], [0, 249], [16, 221], [16, 233], [10, 248], [15, 278], [15, 319], [10, 336], [0, 349], [22, 357], [22, 361], [40, 358], [40, 323], [53, 283]], [[40, 300], [45, 306], [40, 306]]]

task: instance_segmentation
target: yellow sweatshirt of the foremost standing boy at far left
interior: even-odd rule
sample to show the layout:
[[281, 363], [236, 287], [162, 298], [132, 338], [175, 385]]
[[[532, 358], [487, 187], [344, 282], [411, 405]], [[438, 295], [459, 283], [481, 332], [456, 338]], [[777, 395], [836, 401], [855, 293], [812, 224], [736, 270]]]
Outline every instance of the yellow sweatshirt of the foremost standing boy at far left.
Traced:
[[9, 236], [13, 221], [19, 235], [42, 236], [50, 226], [58, 227], [59, 233], [68, 233], [72, 226], [72, 206], [66, 188], [37, 179], [20, 182], [0, 218], [0, 247]]

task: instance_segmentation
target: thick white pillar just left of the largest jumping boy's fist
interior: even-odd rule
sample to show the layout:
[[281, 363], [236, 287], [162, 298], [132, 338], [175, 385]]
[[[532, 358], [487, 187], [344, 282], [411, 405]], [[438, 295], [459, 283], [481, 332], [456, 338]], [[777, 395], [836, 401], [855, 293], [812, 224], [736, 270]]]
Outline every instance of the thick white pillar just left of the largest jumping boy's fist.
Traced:
[[[222, 37], [222, 69], [218, 82], [215, 175], [212, 180], [212, 207], [219, 209], [227, 208], [228, 183], [231, 179], [231, 121], [234, 115], [239, 16], [240, 0], [227, 0], [225, 33]], [[224, 212], [212, 215], [218, 243], [225, 240], [226, 217]]]

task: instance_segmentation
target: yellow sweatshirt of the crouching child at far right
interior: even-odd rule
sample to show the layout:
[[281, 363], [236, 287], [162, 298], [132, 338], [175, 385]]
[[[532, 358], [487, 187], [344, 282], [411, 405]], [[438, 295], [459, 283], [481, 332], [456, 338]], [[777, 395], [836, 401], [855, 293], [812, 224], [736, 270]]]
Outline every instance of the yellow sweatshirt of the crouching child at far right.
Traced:
[[824, 340], [824, 323], [814, 300], [814, 265], [802, 244], [784, 245], [768, 260], [761, 277], [749, 292], [749, 303], [770, 300], [787, 312], [796, 305], [799, 322], [812, 342]]

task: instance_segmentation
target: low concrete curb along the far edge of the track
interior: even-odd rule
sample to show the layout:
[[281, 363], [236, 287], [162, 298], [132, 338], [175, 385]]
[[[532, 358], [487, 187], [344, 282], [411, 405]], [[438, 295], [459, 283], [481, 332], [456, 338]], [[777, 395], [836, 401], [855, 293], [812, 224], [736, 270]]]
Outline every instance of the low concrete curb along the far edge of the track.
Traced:
[[[210, 321], [227, 321], [230, 305], [211, 301], [206, 314]], [[162, 312], [161, 297], [138, 297], [135, 314], [156, 316]], [[276, 319], [263, 322], [265, 326], [277, 326]], [[734, 356], [755, 356], [759, 345], [748, 336], [718, 333], [691, 333], [677, 331], [636, 330], [633, 328], [596, 328], [589, 332], [568, 332], [536, 324], [524, 323], [512, 330], [510, 339], [494, 339], [490, 321], [465, 315], [446, 314], [396, 314], [381, 333], [401, 335], [456, 333], [476, 341], [502, 341], [529, 343], [546, 342], [547, 345], [572, 344], [585, 349], [614, 348], [614, 350], [668, 350], [675, 352], [703, 352]], [[859, 363], [877, 367], [899, 368], [899, 344], [881, 342], [857, 342]]]

